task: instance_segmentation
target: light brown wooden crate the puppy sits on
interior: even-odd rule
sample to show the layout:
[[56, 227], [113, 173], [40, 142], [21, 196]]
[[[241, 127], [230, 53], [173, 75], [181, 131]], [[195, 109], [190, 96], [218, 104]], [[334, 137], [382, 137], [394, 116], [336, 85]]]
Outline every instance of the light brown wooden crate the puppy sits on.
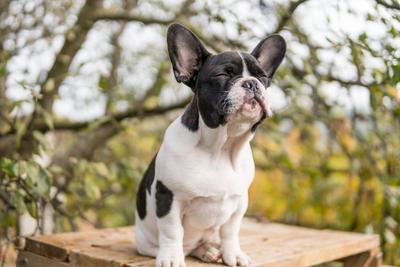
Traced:
[[[252, 266], [302, 267], [340, 260], [346, 267], [380, 265], [379, 237], [315, 230], [245, 219], [242, 249]], [[188, 267], [222, 266], [187, 257]], [[147, 267], [154, 259], [138, 255], [133, 226], [27, 238], [18, 267]]]

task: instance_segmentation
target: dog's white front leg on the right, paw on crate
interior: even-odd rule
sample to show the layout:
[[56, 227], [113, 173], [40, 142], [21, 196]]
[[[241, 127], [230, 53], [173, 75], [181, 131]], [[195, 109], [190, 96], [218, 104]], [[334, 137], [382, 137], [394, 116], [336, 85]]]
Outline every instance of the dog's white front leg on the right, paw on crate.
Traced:
[[250, 258], [241, 250], [239, 231], [247, 209], [247, 195], [241, 199], [238, 209], [220, 229], [222, 259], [229, 266], [249, 266]]

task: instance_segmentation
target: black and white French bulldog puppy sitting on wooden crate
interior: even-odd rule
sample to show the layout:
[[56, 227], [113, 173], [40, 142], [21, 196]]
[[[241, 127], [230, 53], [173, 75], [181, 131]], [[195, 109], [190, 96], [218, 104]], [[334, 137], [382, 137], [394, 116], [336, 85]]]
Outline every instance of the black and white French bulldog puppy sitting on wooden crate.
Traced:
[[271, 116], [266, 89], [286, 52], [279, 35], [251, 54], [212, 54], [187, 28], [168, 29], [175, 78], [194, 92], [166, 130], [137, 193], [136, 245], [157, 267], [183, 267], [185, 255], [248, 266], [239, 229], [254, 176], [250, 140]]

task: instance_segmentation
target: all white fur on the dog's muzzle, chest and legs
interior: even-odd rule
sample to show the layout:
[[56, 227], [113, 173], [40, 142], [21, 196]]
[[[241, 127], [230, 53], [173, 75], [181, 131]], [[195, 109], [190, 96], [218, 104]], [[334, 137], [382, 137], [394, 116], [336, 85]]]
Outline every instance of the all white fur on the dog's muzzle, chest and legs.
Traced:
[[[187, 129], [181, 117], [166, 130], [151, 194], [146, 191], [147, 215], [144, 220], [136, 216], [137, 249], [157, 257], [157, 267], [185, 266], [188, 254], [205, 261], [221, 257], [230, 266], [250, 264], [240, 249], [239, 229], [254, 177], [250, 129], [261, 109], [246, 109], [245, 89], [239, 84], [229, 94], [235, 110], [226, 125], [208, 128], [199, 115], [197, 131]], [[155, 215], [157, 180], [174, 195], [162, 218]]]

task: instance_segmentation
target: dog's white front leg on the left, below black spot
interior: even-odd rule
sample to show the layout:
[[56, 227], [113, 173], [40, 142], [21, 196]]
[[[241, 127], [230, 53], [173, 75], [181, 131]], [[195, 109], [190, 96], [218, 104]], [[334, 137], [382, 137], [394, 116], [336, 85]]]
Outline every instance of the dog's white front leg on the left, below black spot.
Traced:
[[160, 197], [157, 199], [157, 202], [159, 201], [164, 203], [157, 203], [159, 250], [156, 258], [156, 267], [185, 267], [181, 203], [171, 199], [170, 209], [164, 214], [165, 212], [159, 212], [159, 205], [165, 205], [165, 201], [168, 202], [168, 200]]

